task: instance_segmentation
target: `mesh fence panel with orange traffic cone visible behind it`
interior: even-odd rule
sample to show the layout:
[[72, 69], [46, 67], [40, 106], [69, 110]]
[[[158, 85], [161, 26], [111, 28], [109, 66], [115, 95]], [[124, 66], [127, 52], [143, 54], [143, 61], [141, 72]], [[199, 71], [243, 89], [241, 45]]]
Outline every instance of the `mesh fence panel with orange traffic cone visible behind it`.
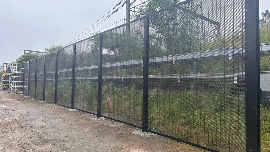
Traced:
[[[101, 115], [136, 126], [142, 126], [142, 63], [138, 60], [143, 57], [143, 22], [103, 33]], [[125, 66], [130, 62], [133, 65]]]

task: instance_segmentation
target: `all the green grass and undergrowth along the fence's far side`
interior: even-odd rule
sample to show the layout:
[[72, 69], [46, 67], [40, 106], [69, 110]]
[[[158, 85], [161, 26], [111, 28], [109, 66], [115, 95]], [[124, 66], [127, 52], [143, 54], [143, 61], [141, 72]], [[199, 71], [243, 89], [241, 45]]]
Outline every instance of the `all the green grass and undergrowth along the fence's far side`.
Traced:
[[[142, 87], [142, 83], [138, 82]], [[54, 86], [46, 83], [46, 86]], [[220, 84], [223, 85], [223, 84]], [[142, 126], [142, 88], [104, 82], [103, 116]], [[66, 88], [66, 89], [63, 89]], [[58, 103], [71, 101], [71, 83], [58, 82]], [[97, 82], [76, 81], [75, 108], [96, 113]], [[70, 93], [67, 93], [70, 92]], [[109, 93], [113, 108], [107, 107]], [[46, 89], [46, 98], [54, 91]], [[164, 90], [149, 88], [149, 129], [220, 151], [244, 151], [245, 96], [230, 89]], [[270, 109], [261, 106], [261, 149], [270, 151]]]

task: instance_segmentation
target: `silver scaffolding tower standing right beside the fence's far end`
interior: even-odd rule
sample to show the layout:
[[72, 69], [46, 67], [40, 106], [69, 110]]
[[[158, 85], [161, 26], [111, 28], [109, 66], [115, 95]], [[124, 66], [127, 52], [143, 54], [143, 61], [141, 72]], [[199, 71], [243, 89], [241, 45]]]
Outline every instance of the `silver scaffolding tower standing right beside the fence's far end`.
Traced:
[[12, 61], [9, 73], [9, 93], [22, 92], [24, 62]]

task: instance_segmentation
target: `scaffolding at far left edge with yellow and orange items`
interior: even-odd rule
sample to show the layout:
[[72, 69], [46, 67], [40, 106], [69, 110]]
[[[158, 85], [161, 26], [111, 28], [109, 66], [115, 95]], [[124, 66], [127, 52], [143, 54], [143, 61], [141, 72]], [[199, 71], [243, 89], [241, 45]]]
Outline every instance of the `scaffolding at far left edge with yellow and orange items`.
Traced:
[[10, 63], [4, 63], [1, 66], [1, 90], [6, 90], [9, 88], [9, 73]]

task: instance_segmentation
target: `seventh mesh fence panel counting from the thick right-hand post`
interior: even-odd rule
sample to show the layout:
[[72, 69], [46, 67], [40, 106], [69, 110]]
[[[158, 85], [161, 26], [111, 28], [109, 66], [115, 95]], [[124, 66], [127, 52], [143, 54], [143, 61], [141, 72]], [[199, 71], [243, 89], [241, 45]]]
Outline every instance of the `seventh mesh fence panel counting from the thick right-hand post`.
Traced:
[[36, 60], [32, 60], [29, 62], [29, 96], [34, 97], [35, 96], [35, 74], [36, 74]]

